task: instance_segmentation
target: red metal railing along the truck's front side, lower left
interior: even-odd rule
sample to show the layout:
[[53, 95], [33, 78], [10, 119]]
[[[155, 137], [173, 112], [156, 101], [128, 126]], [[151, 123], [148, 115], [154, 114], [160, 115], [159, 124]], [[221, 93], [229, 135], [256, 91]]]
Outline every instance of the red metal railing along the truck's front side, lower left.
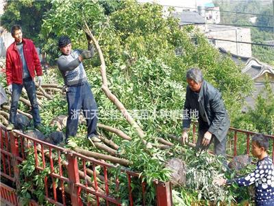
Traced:
[[[121, 205], [119, 196], [120, 183], [128, 184], [129, 205], [134, 205], [136, 194], [132, 184], [139, 183], [142, 192], [142, 205], [146, 205], [146, 184], [136, 172], [121, 170], [124, 177], [111, 175], [116, 166], [86, 157], [72, 150], [29, 137], [14, 130], [8, 133], [0, 126], [1, 137], [1, 176], [18, 183], [19, 170], [17, 165], [29, 155], [34, 156], [35, 172], [42, 174], [48, 170], [43, 179], [45, 185], [45, 200], [55, 205]], [[12, 161], [10, 161], [12, 160]], [[25, 176], [25, 181], [28, 181]], [[156, 198], [160, 206], [172, 205], [171, 183], [156, 182]], [[35, 190], [35, 188], [34, 188]], [[8, 198], [1, 194], [1, 198]], [[13, 198], [13, 197], [11, 197]], [[17, 202], [18, 203], [18, 202]], [[14, 205], [17, 205], [14, 204]]]

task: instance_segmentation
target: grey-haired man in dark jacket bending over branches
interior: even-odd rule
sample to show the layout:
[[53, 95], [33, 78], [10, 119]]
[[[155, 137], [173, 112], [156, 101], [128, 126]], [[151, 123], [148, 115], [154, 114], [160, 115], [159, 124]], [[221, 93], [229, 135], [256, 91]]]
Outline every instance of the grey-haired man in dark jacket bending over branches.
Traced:
[[193, 111], [197, 111], [199, 137], [197, 150], [206, 150], [214, 141], [214, 154], [225, 156], [226, 135], [229, 129], [229, 117], [221, 98], [221, 93], [203, 80], [200, 69], [192, 68], [186, 73], [186, 102], [182, 125], [182, 143], [188, 141], [188, 130]]

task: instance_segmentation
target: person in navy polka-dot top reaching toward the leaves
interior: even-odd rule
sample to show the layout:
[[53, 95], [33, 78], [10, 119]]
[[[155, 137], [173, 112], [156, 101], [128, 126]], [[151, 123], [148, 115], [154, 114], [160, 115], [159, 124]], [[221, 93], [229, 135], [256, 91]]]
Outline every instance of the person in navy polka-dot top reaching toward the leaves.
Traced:
[[236, 183], [239, 186], [249, 186], [255, 183], [256, 206], [274, 205], [274, 167], [271, 158], [267, 155], [269, 149], [269, 138], [262, 134], [252, 137], [252, 155], [258, 158], [256, 170], [245, 177], [238, 179], [216, 178], [217, 185], [231, 185]]

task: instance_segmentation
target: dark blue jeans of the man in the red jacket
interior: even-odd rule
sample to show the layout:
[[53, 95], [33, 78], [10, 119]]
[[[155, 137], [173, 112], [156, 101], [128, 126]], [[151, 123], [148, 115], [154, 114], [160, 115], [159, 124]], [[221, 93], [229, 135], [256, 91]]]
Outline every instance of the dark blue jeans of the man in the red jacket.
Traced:
[[10, 106], [10, 123], [16, 125], [16, 113], [18, 108], [19, 98], [22, 93], [22, 89], [25, 87], [27, 91], [27, 97], [30, 104], [32, 104], [32, 117], [34, 119], [34, 126], [41, 123], [39, 115], [39, 108], [36, 99], [36, 87], [32, 78], [23, 81], [23, 84], [12, 84], [12, 105]]

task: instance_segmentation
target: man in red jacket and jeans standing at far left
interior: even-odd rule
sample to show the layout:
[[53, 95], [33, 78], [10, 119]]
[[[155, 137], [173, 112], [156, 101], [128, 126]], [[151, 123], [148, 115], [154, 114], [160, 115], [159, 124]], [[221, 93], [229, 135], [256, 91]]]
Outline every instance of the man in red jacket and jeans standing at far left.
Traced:
[[36, 100], [35, 76], [38, 76], [38, 84], [42, 84], [42, 67], [36, 52], [34, 43], [23, 38], [20, 25], [14, 25], [11, 30], [14, 43], [7, 49], [5, 73], [7, 77], [8, 90], [12, 93], [12, 105], [10, 107], [10, 124], [7, 129], [12, 130], [16, 125], [16, 113], [18, 101], [23, 87], [27, 91], [27, 96], [32, 104], [32, 117], [34, 127], [41, 129], [41, 119]]

